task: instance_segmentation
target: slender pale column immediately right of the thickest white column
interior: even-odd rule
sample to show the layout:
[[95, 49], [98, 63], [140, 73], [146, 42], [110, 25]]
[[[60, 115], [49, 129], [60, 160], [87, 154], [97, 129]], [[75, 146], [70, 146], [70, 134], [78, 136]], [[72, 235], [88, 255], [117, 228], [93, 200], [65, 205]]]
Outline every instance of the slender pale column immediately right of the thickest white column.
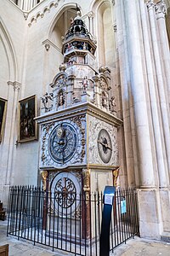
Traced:
[[156, 90], [156, 78], [155, 78], [155, 68], [152, 64], [153, 59], [150, 51], [150, 36], [148, 31], [148, 20], [147, 9], [145, 8], [144, 2], [139, 1], [140, 14], [142, 21], [142, 30], [144, 36], [144, 53], [145, 53], [145, 63], [147, 69], [147, 79], [150, 93], [150, 107], [152, 113], [153, 130], [155, 134], [155, 144], [156, 144], [156, 160], [157, 168], [159, 173], [159, 186], [167, 187], [168, 184], [168, 169], [167, 169], [167, 155], [165, 148], [165, 140], [163, 137], [163, 127], [161, 120], [161, 108], [158, 102], [158, 91]]

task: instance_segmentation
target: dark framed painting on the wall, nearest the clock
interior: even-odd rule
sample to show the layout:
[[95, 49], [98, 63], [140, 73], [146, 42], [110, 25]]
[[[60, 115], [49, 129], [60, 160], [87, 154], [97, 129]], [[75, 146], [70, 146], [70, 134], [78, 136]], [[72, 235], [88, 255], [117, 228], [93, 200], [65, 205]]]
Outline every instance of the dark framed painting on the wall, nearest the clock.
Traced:
[[37, 96], [19, 102], [19, 143], [37, 140]]

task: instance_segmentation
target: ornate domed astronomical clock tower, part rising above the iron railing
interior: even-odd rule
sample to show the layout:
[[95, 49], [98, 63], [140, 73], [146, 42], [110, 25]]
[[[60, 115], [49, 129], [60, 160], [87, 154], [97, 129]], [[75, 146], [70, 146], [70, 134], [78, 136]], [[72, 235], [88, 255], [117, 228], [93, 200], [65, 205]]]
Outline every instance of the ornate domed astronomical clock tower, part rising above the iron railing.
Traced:
[[111, 71], [96, 71], [95, 49], [77, 12], [63, 40], [64, 62], [37, 117], [39, 169], [44, 188], [51, 191], [102, 191], [113, 185], [112, 172], [119, 166], [117, 126], [122, 120], [116, 118]]

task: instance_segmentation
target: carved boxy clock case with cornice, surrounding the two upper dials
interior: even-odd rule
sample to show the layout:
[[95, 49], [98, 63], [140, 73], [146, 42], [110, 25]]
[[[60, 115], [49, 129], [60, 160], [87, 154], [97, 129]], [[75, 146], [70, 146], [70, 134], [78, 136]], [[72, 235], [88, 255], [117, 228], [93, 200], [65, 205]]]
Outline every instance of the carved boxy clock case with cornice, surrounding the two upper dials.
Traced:
[[[122, 123], [111, 113], [97, 108], [91, 102], [84, 102], [60, 109], [58, 112], [45, 113], [37, 118], [41, 127], [40, 171], [82, 173], [82, 188], [86, 189], [85, 177], [88, 173], [88, 185], [91, 191], [102, 190], [105, 184], [113, 184], [112, 171], [119, 166], [117, 127]], [[56, 162], [49, 152], [50, 136], [59, 125], [68, 124], [77, 132], [77, 148], [70, 160]], [[105, 129], [111, 137], [111, 160], [105, 163], [98, 150], [99, 131]], [[54, 177], [54, 175], [53, 175]], [[52, 184], [53, 178], [50, 178]]]

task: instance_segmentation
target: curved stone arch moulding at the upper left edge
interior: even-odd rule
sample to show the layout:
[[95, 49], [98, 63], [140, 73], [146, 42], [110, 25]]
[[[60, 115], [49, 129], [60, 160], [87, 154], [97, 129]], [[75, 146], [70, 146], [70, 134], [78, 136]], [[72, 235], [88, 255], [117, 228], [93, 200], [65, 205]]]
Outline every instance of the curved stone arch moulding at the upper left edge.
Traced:
[[3, 44], [3, 49], [6, 53], [8, 61], [8, 81], [16, 81], [18, 79], [17, 62], [14, 53], [14, 46], [8, 35], [8, 31], [0, 18], [0, 38]]

